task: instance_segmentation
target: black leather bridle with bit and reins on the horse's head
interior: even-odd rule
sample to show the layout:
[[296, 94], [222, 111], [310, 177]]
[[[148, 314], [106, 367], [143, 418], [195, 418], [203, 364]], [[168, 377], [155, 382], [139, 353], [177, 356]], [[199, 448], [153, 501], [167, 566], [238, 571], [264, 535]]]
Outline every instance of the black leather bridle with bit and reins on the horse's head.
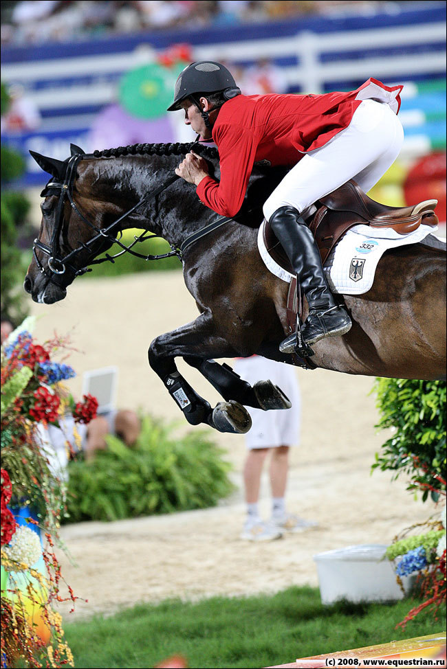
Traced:
[[[155, 188], [155, 190], [146, 194], [136, 205], [134, 205], [131, 209], [122, 214], [120, 218], [114, 220], [113, 223], [111, 223], [108, 227], [100, 229], [96, 225], [94, 225], [94, 223], [91, 223], [91, 221], [85, 218], [85, 216], [79, 211], [78, 206], [74, 202], [72, 196], [72, 189], [74, 181], [76, 179], [76, 166], [78, 165], [78, 162], [80, 160], [86, 157], [91, 157], [91, 156], [88, 154], [76, 154], [70, 157], [67, 162], [67, 169], [65, 170], [65, 177], [63, 182], [61, 183], [60, 181], [49, 181], [41, 193], [41, 196], [47, 196], [50, 194], [56, 194], [58, 191], [60, 191], [56, 208], [56, 222], [54, 225], [54, 229], [52, 231], [50, 245], [46, 245], [43, 242], [41, 242], [39, 238], [36, 238], [34, 240], [34, 245], [32, 247], [34, 258], [41, 273], [45, 275], [45, 277], [47, 277], [47, 279], [50, 280], [50, 282], [58, 286], [58, 288], [63, 288], [65, 286], [61, 286], [61, 284], [59, 284], [54, 280], [55, 275], [60, 276], [65, 274], [68, 268], [69, 271], [71, 271], [71, 273], [74, 275], [74, 277], [76, 277], [85, 274], [86, 272], [91, 272], [91, 269], [87, 266], [88, 264], [100, 264], [101, 262], [107, 262], [107, 261], [115, 262], [115, 258], [122, 256], [123, 253], [131, 253], [132, 256], [136, 256], [137, 258], [143, 258], [144, 260], [160, 260], [161, 258], [171, 258], [172, 256], [177, 256], [178, 258], [180, 258], [180, 260], [182, 260], [181, 251], [175, 248], [173, 245], [170, 245], [172, 249], [170, 253], [163, 253], [162, 255], [159, 256], [151, 256], [151, 255], [144, 256], [142, 255], [142, 253], [133, 251], [132, 247], [135, 246], [137, 242], [144, 242], [144, 240], [161, 236], [153, 233], [146, 235], [146, 233], [149, 232], [148, 229], [145, 229], [140, 236], [135, 236], [134, 241], [129, 246], [124, 245], [120, 241], [122, 238], [122, 231], [118, 231], [119, 238], [117, 238], [116, 234], [113, 234], [112, 232], [114, 228], [116, 229], [118, 223], [121, 223], [122, 220], [124, 220], [124, 218], [127, 218], [127, 216], [130, 216], [130, 214], [133, 214], [133, 212], [135, 212], [135, 209], [138, 209], [138, 207], [140, 207], [143, 203], [156, 197], [162, 191], [168, 188], [168, 186], [174, 183], [174, 181], [177, 181], [177, 179], [179, 179], [179, 177], [177, 177], [177, 174], [174, 174], [172, 177], [169, 177], [169, 179], [167, 179], [164, 183], [162, 183], [162, 185], [158, 186], [157, 188]], [[59, 245], [59, 238], [61, 236], [61, 231], [63, 229], [63, 222], [64, 222], [63, 209], [65, 205], [65, 200], [69, 201], [72, 209], [74, 209], [74, 212], [76, 212], [76, 214], [78, 214], [78, 216], [82, 218], [82, 220], [85, 221], [85, 223], [87, 223], [94, 230], [96, 234], [87, 242], [81, 242], [76, 249], [69, 251], [69, 253], [67, 253], [66, 256], [63, 256], [63, 258], [61, 258], [61, 248]], [[81, 251], [88, 251], [89, 253], [91, 253], [92, 247], [94, 247], [95, 243], [100, 240], [103, 241], [104, 239], [109, 240], [109, 242], [111, 242], [112, 244], [118, 244], [118, 246], [121, 247], [122, 251], [116, 253], [114, 256], [110, 256], [109, 253], [106, 253], [104, 258], [95, 258], [93, 260], [90, 260], [88, 264], [85, 265], [85, 267], [76, 269], [76, 267], [74, 267], [74, 265], [72, 264], [72, 260], [74, 260], [74, 258], [78, 256], [78, 253], [80, 253]], [[42, 253], [44, 253], [45, 256], [49, 256], [47, 262], [47, 269], [50, 270], [51, 274], [48, 274], [47, 271], [45, 271], [45, 267], [43, 267], [41, 260], [39, 260], [39, 257], [37, 256], [36, 249], [42, 251]]]

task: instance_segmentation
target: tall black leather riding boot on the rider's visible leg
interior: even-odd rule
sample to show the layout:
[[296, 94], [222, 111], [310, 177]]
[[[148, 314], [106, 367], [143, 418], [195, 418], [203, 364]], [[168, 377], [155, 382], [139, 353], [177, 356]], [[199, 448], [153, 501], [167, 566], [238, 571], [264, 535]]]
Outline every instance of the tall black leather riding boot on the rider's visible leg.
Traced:
[[[336, 337], [351, 329], [351, 319], [345, 308], [338, 306], [331, 293], [321, 264], [320, 251], [297, 209], [291, 206], [276, 209], [270, 218], [274, 234], [289, 258], [307, 302], [309, 315], [303, 325], [305, 343], [312, 344], [324, 337]], [[280, 344], [281, 353], [294, 353], [296, 334]]]

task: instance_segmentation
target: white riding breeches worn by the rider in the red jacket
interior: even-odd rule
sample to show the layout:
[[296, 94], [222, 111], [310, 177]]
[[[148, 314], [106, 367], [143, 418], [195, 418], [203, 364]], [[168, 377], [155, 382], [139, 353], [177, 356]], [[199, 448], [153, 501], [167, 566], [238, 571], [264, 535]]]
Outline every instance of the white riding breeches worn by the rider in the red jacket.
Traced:
[[368, 192], [393, 164], [403, 141], [402, 124], [388, 104], [363, 100], [345, 130], [286, 174], [264, 203], [265, 218], [286, 205], [301, 213], [349, 179]]

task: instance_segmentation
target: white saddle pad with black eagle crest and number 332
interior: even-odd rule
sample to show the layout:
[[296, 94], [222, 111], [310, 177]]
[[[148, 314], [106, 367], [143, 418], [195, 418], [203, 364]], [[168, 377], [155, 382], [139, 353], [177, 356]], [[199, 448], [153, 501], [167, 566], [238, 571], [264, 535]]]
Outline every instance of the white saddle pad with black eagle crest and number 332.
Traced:
[[[290, 283], [294, 275], [285, 271], [268, 254], [263, 241], [263, 226], [259, 228], [258, 248], [265, 266], [279, 279]], [[325, 262], [327, 281], [333, 293], [362, 295], [373, 285], [375, 269], [388, 249], [417, 244], [437, 228], [419, 227], [406, 235], [392, 228], [378, 229], [369, 225], [354, 225], [332, 249]]]

